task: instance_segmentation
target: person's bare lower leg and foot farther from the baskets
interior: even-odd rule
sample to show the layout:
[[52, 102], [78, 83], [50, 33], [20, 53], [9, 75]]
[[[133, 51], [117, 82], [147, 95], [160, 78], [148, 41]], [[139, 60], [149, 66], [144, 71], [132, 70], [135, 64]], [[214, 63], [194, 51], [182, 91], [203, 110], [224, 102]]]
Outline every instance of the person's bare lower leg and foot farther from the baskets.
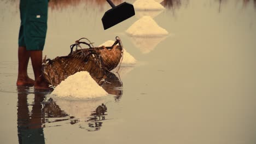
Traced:
[[30, 59], [30, 52], [26, 50], [26, 47], [19, 46], [18, 50], [18, 61], [19, 61], [19, 71], [18, 79], [16, 82], [17, 86], [21, 85], [34, 85], [34, 80], [30, 79], [27, 75], [27, 65]]

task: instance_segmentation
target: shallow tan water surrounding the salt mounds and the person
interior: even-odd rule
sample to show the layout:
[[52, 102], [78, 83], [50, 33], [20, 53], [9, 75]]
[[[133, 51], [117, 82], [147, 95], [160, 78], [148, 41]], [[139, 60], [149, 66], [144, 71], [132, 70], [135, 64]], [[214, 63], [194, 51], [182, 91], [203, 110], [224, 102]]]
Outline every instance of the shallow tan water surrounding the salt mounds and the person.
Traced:
[[51, 5], [47, 57], [67, 55], [82, 37], [100, 45], [118, 35], [138, 61], [121, 67], [111, 95], [81, 101], [15, 86], [19, 2], [0, 3], [0, 143], [256, 142], [255, 1], [164, 1], [165, 10], [146, 13], [170, 33], [162, 38], [125, 34], [145, 13], [104, 31], [107, 3]]

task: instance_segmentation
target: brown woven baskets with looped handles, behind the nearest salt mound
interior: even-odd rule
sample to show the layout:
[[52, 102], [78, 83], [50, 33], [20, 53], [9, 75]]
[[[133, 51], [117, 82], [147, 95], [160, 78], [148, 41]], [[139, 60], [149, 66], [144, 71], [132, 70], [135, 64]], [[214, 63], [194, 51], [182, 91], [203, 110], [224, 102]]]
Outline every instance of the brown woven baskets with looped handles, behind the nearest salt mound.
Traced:
[[[111, 47], [91, 47], [92, 43], [79, 40], [71, 45], [68, 56], [56, 57], [52, 60], [44, 58], [43, 75], [52, 86], [59, 85], [62, 80], [78, 71], [88, 71], [96, 82], [100, 82], [101, 79], [106, 78], [106, 71], [118, 66], [123, 56], [123, 47], [119, 39]], [[77, 49], [78, 46], [81, 47], [80, 44], [86, 44], [90, 48]], [[76, 46], [75, 51], [73, 51], [74, 46]]]

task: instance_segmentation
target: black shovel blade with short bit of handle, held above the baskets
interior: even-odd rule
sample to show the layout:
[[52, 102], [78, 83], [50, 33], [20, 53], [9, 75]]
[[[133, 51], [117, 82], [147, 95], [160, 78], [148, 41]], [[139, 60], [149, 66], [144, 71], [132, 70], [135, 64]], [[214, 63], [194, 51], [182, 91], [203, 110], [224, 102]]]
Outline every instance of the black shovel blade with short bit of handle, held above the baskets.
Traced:
[[112, 9], [106, 11], [101, 19], [105, 30], [135, 15], [133, 5], [130, 3], [124, 2], [115, 6], [112, 1], [106, 1], [111, 5]]

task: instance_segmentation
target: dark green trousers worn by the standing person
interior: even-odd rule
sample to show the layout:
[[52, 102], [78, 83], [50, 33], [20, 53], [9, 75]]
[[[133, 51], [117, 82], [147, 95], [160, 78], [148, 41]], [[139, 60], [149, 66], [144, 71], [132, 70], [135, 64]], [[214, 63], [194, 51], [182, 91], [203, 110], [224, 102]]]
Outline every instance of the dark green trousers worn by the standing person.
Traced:
[[47, 31], [48, 0], [20, 0], [19, 46], [43, 50]]

